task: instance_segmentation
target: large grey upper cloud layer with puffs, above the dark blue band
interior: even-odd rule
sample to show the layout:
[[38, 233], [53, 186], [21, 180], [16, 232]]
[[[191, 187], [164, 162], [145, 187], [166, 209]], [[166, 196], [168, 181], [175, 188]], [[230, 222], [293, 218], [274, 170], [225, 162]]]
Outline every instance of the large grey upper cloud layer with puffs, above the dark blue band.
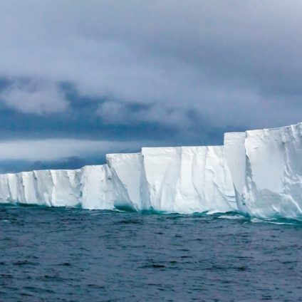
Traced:
[[0, 75], [43, 85], [14, 84], [0, 99], [23, 113], [62, 112], [70, 104], [59, 85], [71, 83], [105, 99], [91, 113], [105, 125], [297, 123], [301, 9], [281, 0], [3, 0]]

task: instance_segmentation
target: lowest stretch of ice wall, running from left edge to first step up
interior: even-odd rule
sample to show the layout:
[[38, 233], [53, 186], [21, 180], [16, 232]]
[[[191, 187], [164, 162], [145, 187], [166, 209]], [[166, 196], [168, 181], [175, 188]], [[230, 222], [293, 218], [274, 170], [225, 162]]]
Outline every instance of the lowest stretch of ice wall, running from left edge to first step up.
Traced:
[[113, 209], [110, 182], [106, 165], [0, 175], [0, 202]]

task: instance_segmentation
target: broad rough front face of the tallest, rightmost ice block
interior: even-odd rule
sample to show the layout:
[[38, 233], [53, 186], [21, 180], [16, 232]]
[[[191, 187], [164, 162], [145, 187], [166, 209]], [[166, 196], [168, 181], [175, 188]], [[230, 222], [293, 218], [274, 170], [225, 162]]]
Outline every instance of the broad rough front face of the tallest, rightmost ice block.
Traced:
[[302, 124], [246, 131], [246, 187], [249, 214], [302, 215]]

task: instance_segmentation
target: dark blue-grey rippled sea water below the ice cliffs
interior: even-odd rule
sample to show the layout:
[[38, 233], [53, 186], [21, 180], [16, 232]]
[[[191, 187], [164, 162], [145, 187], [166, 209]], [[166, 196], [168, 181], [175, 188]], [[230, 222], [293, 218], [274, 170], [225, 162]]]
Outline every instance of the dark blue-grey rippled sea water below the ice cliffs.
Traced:
[[0, 206], [0, 301], [302, 301], [302, 224]]

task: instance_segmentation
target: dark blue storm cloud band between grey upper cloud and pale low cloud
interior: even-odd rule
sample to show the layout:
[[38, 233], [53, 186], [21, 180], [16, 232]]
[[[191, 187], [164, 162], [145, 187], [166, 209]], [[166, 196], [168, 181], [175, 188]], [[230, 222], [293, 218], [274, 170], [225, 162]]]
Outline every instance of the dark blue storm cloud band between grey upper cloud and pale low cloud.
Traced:
[[[26, 82], [26, 87], [29, 85], [28, 81], [21, 80], [21, 83], [23, 82]], [[204, 121], [200, 115], [194, 115], [190, 110], [166, 108], [158, 103], [141, 104], [112, 98], [83, 97], [78, 95], [73, 85], [67, 83], [59, 85], [58, 88], [62, 99], [68, 103], [68, 108], [57, 110], [55, 113], [40, 112], [42, 106], [31, 108], [32, 113], [25, 113], [24, 108], [12, 108], [7, 100], [0, 103], [0, 139], [51, 137], [120, 142], [140, 140], [140, 144], [148, 146], [192, 143], [198, 145], [209, 140], [207, 131], [198, 137], [195, 135], [197, 130], [204, 130]], [[6, 81], [2, 90], [11, 90], [11, 83]], [[161, 123], [162, 120], [165, 120], [165, 123]], [[189, 126], [192, 126], [193, 120], [194, 129], [191, 129]], [[220, 143], [221, 139], [220, 135], [217, 142]], [[116, 150], [118, 151], [120, 150]]]

